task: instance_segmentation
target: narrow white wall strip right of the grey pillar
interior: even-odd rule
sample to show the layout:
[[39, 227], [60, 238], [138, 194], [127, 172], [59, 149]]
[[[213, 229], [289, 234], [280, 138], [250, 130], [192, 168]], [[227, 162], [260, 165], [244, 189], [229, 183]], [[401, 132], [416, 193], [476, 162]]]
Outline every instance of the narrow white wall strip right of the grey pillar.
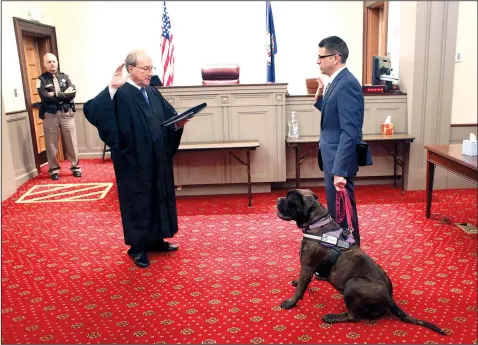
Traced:
[[460, 1], [458, 5], [458, 32], [456, 51], [463, 56], [455, 63], [451, 123], [477, 123], [476, 114], [476, 54], [477, 54], [477, 4]]

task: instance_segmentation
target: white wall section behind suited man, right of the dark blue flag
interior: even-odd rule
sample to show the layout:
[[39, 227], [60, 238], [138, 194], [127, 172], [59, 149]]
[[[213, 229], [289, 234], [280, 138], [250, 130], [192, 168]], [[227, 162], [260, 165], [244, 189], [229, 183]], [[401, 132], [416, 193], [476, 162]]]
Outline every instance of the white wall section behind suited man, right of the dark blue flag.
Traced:
[[[318, 44], [322, 38], [332, 35], [341, 37], [347, 43], [348, 68], [362, 82], [362, 2], [273, 1], [272, 10], [278, 47], [276, 81], [289, 83], [290, 94], [306, 94], [305, 79], [316, 77], [319, 73], [316, 65]], [[263, 50], [258, 52], [258, 61], [263, 60]], [[263, 71], [265, 78], [262, 61], [258, 71]]]

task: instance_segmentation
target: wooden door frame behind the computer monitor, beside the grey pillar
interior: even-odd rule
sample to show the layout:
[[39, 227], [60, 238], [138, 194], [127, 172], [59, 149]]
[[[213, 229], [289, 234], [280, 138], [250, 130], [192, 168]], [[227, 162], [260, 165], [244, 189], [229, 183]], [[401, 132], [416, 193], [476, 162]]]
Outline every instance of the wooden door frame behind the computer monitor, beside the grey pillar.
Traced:
[[[368, 54], [369, 40], [371, 39], [368, 35], [369, 30], [369, 16], [371, 11], [383, 7], [383, 32], [384, 37], [382, 38], [382, 49], [387, 54], [387, 45], [388, 45], [388, 0], [379, 0], [379, 1], [364, 1], [363, 2], [363, 52], [362, 52], [362, 85], [365, 85], [367, 82], [367, 73], [372, 71], [368, 70], [368, 63], [371, 59], [371, 56]], [[380, 46], [380, 44], [379, 44]]]

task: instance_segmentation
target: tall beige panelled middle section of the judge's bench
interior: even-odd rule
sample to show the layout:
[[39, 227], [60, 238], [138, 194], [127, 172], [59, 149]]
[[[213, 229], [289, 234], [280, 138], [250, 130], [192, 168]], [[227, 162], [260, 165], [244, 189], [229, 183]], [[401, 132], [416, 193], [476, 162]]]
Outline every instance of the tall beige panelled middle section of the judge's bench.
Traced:
[[[178, 112], [207, 103], [185, 125], [181, 145], [258, 141], [259, 146], [250, 153], [250, 178], [256, 185], [253, 187], [285, 181], [287, 84], [168, 86], [158, 90]], [[205, 193], [216, 186], [224, 189], [226, 185], [228, 188], [249, 185], [242, 164], [225, 151], [177, 155], [174, 174], [178, 186], [201, 188]]]

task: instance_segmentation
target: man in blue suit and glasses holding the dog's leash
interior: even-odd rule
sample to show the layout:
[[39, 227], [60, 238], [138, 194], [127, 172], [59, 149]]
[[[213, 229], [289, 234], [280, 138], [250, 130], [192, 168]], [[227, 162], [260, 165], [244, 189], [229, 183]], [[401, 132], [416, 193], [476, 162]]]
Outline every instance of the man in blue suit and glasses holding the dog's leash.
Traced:
[[[360, 245], [354, 179], [358, 172], [356, 146], [362, 140], [364, 97], [359, 81], [345, 65], [348, 55], [347, 45], [340, 37], [327, 37], [319, 43], [317, 64], [329, 77], [329, 82], [324, 88], [318, 79], [315, 107], [322, 116], [319, 166], [324, 172], [327, 208], [335, 218], [336, 192], [345, 188], [353, 208], [353, 235]], [[347, 229], [347, 219], [344, 218], [341, 226]]]

